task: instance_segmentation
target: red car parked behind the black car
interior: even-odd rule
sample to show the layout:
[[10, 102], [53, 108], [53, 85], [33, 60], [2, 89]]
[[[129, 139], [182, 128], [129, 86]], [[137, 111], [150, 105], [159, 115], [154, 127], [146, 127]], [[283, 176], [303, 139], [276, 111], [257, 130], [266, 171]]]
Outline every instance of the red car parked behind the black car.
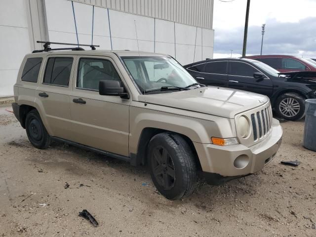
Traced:
[[255, 59], [268, 64], [280, 73], [294, 71], [316, 72], [316, 62], [311, 59], [299, 58], [288, 55], [254, 55], [246, 58]]

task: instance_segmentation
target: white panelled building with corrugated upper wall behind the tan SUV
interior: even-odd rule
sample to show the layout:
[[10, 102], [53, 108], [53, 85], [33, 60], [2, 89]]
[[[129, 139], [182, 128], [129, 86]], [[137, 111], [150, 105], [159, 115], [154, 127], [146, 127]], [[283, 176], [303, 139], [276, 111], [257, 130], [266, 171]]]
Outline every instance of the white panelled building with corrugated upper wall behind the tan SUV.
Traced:
[[0, 97], [13, 95], [24, 55], [42, 49], [37, 40], [139, 48], [182, 64], [212, 58], [213, 1], [0, 0]]

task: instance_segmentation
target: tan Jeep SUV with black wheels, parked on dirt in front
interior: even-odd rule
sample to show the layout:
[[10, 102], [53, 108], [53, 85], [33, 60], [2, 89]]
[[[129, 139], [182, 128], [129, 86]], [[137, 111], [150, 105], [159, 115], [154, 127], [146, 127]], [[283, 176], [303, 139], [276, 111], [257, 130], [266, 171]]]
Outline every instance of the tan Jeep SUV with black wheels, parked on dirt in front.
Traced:
[[163, 54], [31, 53], [14, 98], [14, 114], [36, 148], [55, 139], [148, 164], [169, 199], [190, 195], [199, 171], [221, 184], [261, 170], [282, 137], [268, 97], [199, 84]]

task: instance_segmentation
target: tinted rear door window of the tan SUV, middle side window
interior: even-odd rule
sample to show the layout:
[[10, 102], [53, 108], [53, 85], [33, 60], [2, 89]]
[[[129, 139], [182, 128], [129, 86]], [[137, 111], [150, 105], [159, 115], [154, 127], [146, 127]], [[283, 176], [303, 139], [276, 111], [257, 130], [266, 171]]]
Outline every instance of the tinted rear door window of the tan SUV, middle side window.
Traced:
[[68, 86], [73, 58], [49, 58], [43, 83]]

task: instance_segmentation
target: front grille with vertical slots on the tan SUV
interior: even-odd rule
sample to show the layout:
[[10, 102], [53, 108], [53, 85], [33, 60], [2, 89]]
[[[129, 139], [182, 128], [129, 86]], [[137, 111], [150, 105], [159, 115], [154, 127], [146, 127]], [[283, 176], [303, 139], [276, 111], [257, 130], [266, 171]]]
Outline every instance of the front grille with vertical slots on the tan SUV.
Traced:
[[[251, 123], [253, 131], [253, 140], [267, 135], [272, 128], [272, 110], [271, 106], [251, 114]], [[258, 134], [259, 131], [259, 134]], [[258, 136], [259, 135], [259, 136]]]

